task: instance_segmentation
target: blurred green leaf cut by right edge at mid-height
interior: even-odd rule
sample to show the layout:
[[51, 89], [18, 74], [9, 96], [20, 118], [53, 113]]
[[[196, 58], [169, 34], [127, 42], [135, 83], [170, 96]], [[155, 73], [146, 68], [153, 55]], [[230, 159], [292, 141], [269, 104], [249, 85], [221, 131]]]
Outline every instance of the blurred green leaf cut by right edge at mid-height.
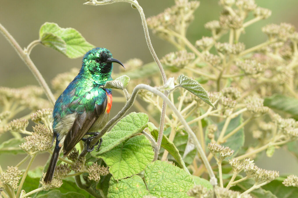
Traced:
[[298, 99], [274, 94], [264, 100], [264, 106], [298, 116]]

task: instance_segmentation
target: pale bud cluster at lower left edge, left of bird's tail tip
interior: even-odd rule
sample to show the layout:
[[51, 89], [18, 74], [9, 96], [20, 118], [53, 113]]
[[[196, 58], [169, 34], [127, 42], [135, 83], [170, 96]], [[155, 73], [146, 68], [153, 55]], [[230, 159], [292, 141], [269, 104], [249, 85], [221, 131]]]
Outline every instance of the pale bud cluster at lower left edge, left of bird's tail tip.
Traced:
[[22, 172], [18, 170], [18, 167], [7, 167], [6, 172], [1, 173], [0, 180], [16, 190], [18, 189], [18, 180], [21, 175]]

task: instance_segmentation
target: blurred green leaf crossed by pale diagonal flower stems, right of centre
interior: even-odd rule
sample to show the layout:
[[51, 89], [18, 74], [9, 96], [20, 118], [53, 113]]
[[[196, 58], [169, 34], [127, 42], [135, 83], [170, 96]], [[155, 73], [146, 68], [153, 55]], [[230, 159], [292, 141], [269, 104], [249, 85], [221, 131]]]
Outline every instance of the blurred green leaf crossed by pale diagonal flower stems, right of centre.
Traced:
[[[233, 118], [227, 129], [226, 129], [226, 132], [224, 135], [227, 135], [229, 134], [230, 132], [232, 132], [235, 128], [237, 128], [241, 123], [243, 122], [243, 118], [242, 118], [242, 114], [238, 115], [236, 118]], [[221, 130], [223, 129], [224, 127], [224, 123], [225, 123], [225, 120], [218, 123], [217, 127], [218, 127], [218, 131], [215, 132], [215, 140], [217, 140]], [[206, 137], [206, 145], [210, 142], [210, 140], [208, 139], [207, 135], [205, 136]], [[221, 144], [223, 146], [228, 146], [230, 149], [234, 150], [234, 153], [231, 157], [228, 157], [226, 159], [231, 159], [233, 158], [233, 156], [235, 156], [239, 151], [240, 149], [242, 148], [242, 146], [244, 145], [244, 130], [243, 128], [239, 129], [235, 134], [233, 134], [231, 137], [229, 137], [226, 142], [224, 142], [223, 144]]]

